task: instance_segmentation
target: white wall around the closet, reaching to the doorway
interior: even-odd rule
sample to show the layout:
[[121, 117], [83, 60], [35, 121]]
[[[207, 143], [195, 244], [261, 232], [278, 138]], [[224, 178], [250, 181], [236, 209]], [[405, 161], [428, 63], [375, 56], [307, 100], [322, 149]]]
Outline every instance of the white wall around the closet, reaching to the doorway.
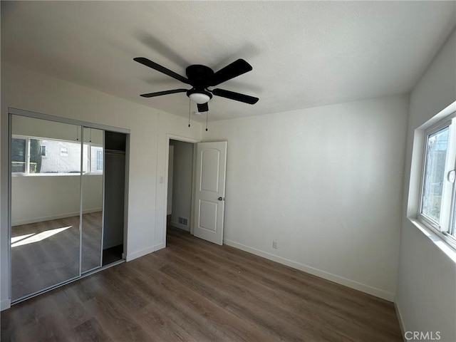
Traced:
[[[1, 63], [1, 308], [9, 306], [8, 107], [130, 130], [127, 259], [165, 247], [167, 134], [201, 137], [201, 125], [73, 83]], [[157, 199], [160, 203], [157, 204]]]

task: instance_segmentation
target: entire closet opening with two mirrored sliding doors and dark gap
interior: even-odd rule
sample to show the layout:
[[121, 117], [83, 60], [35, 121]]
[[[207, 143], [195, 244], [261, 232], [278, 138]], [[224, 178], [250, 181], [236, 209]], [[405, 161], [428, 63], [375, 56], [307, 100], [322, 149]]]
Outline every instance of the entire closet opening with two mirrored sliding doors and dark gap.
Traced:
[[123, 261], [128, 139], [17, 111], [9, 116], [13, 303]]

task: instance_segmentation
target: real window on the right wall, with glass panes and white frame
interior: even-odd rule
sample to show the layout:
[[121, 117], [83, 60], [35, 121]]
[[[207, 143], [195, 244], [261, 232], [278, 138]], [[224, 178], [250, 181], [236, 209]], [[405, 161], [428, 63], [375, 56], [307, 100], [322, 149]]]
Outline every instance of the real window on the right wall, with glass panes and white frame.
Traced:
[[456, 247], [455, 113], [425, 133], [425, 157], [418, 218]]

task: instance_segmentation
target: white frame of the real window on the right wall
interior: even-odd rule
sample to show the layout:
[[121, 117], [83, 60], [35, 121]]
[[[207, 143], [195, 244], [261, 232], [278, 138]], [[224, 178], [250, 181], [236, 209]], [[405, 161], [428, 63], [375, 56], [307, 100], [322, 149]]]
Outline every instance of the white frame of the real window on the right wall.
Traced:
[[[425, 216], [423, 211], [423, 195], [425, 185], [426, 163], [427, 163], [427, 144], [430, 135], [437, 133], [439, 130], [449, 127], [447, 155], [445, 156], [445, 172], [443, 177], [444, 185], [442, 187], [442, 202], [440, 206], [440, 219], [436, 224], [432, 219]], [[449, 172], [456, 170], [456, 111], [442, 118], [434, 125], [425, 130], [423, 142], [423, 159], [421, 162], [420, 174], [420, 197], [418, 204], [417, 219], [428, 229], [438, 235], [450, 247], [456, 249], [456, 229], [452, 234], [452, 224], [456, 221], [456, 181], [448, 180]], [[455, 171], [456, 172], [456, 171]], [[448, 184], [449, 183], [449, 184]], [[448, 194], [450, 190], [450, 194]], [[447, 197], [447, 198], [444, 198]]]

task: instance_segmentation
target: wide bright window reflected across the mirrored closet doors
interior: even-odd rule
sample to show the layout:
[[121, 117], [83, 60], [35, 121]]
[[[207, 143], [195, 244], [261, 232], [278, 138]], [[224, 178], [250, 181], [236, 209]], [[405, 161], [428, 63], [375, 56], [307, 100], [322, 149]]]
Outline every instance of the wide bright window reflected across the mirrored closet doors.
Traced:
[[[90, 155], [88, 153], [90, 151]], [[103, 147], [83, 144], [83, 173], [103, 172]], [[81, 142], [13, 136], [11, 172], [16, 174], [75, 174], [81, 172]]]

